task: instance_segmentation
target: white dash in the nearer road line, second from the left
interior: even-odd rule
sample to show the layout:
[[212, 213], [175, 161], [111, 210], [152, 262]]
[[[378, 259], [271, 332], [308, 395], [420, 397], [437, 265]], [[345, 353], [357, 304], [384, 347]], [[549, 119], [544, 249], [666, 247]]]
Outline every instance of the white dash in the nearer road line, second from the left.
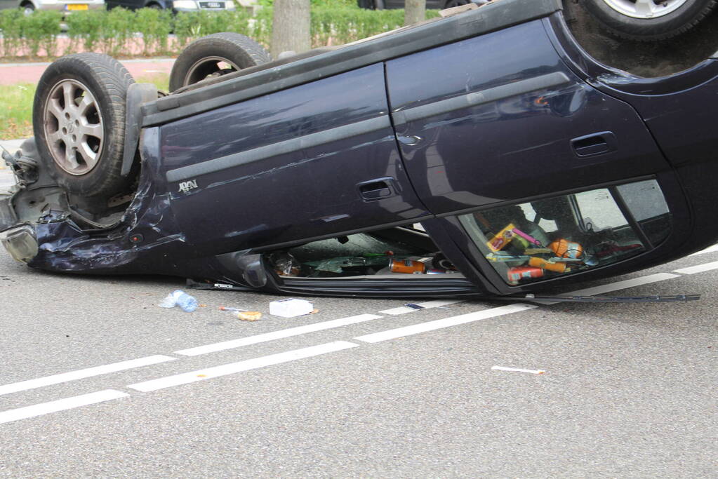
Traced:
[[273, 364], [297, 361], [297, 359], [320, 356], [321, 354], [342, 351], [342, 349], [356, 348], [358, 346], [358, 344], [350, 343], [348, 341], [335, 341], [333, 343], [320, 344], [319, 346], [310, 346], [309, 348], [294, 349], [294, 351], [286, 351], [284, 353], [247, 359], [246, 361], [239, 361], [238, 363], [223, 364], [222, 366], [199, 369], [189, 373], [175, 374], [174, 376], [152, 379], [151, 381], [130, 384], [127, 387], [141, 392], [157, 391], [157, 389], [179, 386], [180, 384], [188, 384], [195, 381], [203, 381], [205, 379], [226, 376], [227, 374], [249, 371], [250, 369], [264, 368], [265, 366], [271, 366]]

